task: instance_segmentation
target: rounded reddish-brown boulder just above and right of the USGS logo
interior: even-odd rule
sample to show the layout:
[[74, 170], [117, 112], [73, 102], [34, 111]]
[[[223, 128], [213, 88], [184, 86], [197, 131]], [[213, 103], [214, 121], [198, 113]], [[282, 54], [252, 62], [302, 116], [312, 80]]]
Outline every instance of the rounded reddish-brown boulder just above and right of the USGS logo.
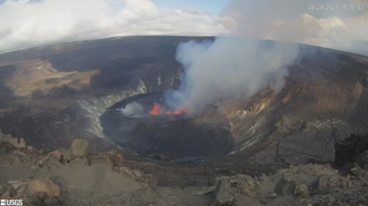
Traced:
[[29, 181], [29, 192], [37, 194], [38, 192], [46, 192], [50, 197], [58, 197], [60, 188], [49, 178], [36, 178]]

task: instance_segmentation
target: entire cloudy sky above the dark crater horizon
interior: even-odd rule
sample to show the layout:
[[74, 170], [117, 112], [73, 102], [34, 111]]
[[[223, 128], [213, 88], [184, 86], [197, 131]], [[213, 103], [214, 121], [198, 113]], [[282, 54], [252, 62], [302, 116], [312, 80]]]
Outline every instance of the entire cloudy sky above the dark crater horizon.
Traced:
[[367, 20], [367, 0], [0, 0], [0, 53], [113, 36], [184, 35], [290, 41], [368, 56]]

